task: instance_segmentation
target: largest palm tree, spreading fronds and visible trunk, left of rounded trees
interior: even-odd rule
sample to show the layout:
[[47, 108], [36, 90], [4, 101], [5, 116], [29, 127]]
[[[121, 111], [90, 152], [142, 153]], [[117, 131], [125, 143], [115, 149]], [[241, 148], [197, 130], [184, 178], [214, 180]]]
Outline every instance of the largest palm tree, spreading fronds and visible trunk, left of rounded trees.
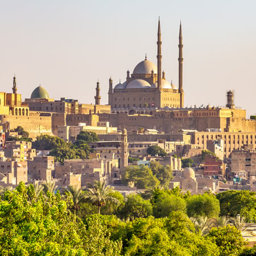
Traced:
[[109, 185], [106, 185], [106, 181], [94, 180], [93, 184], [88, 184], [88, 198], [92, 204], [97, 205], [98, 214], [101, 214], [101, 207], [105, 206], [107, 203], [118, 204], [119, 201], [112, 197], [110, 194], [113, 192]]

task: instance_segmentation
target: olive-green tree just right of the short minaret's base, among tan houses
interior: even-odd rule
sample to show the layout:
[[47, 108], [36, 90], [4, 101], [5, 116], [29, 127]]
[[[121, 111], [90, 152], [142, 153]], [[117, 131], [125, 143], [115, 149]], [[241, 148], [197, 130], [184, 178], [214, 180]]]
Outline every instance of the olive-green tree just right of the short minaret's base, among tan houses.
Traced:
[[160, 182], [152, 174], [152, 171], [147, 166], [128, 166], [125, 168], [122, 175], [122, 183], [128, 185], [134, 183], [137, 188], [156, 187]]

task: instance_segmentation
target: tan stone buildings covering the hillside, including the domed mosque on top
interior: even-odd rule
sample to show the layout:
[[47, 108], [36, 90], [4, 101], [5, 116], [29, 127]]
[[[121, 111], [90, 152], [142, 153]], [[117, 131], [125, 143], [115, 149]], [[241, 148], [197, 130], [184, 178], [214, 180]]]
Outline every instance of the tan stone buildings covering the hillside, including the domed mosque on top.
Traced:
[[[246, 110], [235, 106], [232, 90], [226, 94], [225, 107], [185, 107], [181, 24], [177, 86], [162, 71], [160, 21], [157, 35], [157, 65], [146, 56], [132, 73], [127, 71], [126, 81], [113, 85], [110, 77], [108, 105], [101, 105], [99, 82], [95, 104], [64, 97], [53, 100], [42, 86], [22, 101], [14, 76], [13, 92], [0, 92], [0, 185], [55, 180], [60, 186], [81, 187], [95, 179], [119, 184], [128, 156], [143, 159], [144, 164], [147, 148], [156, 145], [168, 157], [155, 160], [174, 170], [170, 187], [179, 185], [195, 193], [209, 188], [256, 190], [256, 120], [246, 119]], [[5, 140], [21, 123], [32, 139], [48, 134], [73, 142], [81, 131], [93, 131], [100, 141], [92, 143], [95, 153], [90, 159], [65, 160], [61, 165], [36, 152], [30, 142]], [[215, 156], [205, 156], [201, 164], [203, 150]], [[183, 170], [181, 158], [193, 159], [195, 168]]]

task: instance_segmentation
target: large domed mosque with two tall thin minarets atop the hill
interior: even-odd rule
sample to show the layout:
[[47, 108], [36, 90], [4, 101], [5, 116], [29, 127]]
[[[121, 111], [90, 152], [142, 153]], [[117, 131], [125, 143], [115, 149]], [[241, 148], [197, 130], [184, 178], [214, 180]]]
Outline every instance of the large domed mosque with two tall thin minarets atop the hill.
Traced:
[[[147, 56], [136, 65], [133, 73], [127, 71], [126, 81], [114, 86], [109, 79], [109, 105], [112, 113], [144, 113], [145, 108], [183, 108], [183, 52], [182, 31], [179, 31], [179, 88], [166, 80], [162, 72], [162, 41], [158, 21], [157, 66]], [[139, 111], [141, 110], [141, 111]]]

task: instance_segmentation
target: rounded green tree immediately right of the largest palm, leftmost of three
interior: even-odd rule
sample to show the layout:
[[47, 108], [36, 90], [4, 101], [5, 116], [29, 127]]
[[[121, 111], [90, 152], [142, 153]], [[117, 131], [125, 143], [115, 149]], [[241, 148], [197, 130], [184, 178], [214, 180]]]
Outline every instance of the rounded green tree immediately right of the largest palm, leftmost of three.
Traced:
[[121, 218], [134, 220], [135, 218], [146, 218], [152, 215], [152, 205], [150, 201], [142, 199], [140, 195], [128, 195], [125, 204], [119, 210], [118, 216]]

